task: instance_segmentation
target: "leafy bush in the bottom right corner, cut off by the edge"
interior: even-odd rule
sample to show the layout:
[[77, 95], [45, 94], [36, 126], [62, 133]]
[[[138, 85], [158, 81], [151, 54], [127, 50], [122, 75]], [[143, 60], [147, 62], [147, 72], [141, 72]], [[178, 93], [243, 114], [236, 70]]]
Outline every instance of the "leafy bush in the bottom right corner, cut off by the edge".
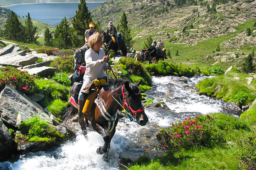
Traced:
[[256, 133], [250, 133], [246, 138], [238, 142], [238, 156], [241, 159], [240, 169], [254, 170], [256, 169]]

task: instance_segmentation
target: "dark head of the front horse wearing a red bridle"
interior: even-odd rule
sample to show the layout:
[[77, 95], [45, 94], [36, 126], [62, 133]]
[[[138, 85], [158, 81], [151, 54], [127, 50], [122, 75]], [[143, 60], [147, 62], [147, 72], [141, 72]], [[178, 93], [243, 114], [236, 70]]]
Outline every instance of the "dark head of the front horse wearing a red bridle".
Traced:
[[[124, 93], [125, 101], [125, 109], [134, 115], [137, 123], [141, 126], [146, 125], [148, 122], [148, 116], [145, 114], [144, 108], [141, 104], [141, 94], [139, 85], [142, 82], [140, 80], [135, 85], [131, 85], [128, 81], [125, 82], [124, 88], [126, 92]], [[123, 92], [123, 91], [122, 91]]]

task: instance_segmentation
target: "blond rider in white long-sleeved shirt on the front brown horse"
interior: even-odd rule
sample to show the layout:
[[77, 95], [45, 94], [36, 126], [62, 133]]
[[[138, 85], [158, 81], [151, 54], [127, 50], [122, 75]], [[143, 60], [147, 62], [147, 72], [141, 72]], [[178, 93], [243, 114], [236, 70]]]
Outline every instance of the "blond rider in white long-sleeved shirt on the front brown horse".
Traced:
[[90, 48], [85, 52], [84, 55], [84, 59], [87, 64], [84, 73], [84, 82], [78, 97], [79, 113], [72, 118], [72, 122], [78, 122], [79, 116], [83, 117], [82, 110], [84, 108], [85, 100], [87, 99], [87, 96], [82, 93], [84, 88], [86, 88], [89, 82], [93, 81], [94, 79], [101, 79], [107, 76], [105, 72], [105, 62], [108, 60], [108, 56], [105, 56], [105, 53], [101, 48], [102, 37], [99, 32], [96, 32], [89, 37], [88, 45]]

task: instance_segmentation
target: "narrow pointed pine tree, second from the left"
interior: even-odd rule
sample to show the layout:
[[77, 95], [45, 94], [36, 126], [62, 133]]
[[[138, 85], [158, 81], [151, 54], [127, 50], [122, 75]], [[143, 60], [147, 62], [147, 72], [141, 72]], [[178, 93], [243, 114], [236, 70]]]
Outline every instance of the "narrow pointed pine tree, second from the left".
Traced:
[[30, 14], [28, 12], [28, 17], [25, 20], [26, 42], [36, 42], [36, 40], [38, 39], [38, 35], [35, 36], [36, 29], [37, 27], [33, 26]]

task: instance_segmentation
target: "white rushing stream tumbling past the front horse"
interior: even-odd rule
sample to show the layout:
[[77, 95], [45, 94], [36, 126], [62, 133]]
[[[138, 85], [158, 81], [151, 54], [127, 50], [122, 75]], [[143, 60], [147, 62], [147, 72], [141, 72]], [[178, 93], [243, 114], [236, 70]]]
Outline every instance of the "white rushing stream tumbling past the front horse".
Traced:
[[52, 151], [29, 153], [4, 164], [11, 170], [118, 170], [120, 158], [134, 161], [144, 154], [153, 158], [161, 154], [152, 145], [157, 144], [155, 134], [162, 127], [200, 113], [221, 112], [221, 100], [197, 94], [195, 85], [204, 78], [182, 78], [182, 81], [174, 76], [153, 77], [153, 88], [146, 91], [146, 99], [163, 101], [170, 110], [145, 108], [149, 121], [143, 127], [130, 122], [127, 117], [120, 119], [111, 141], [109, 162], [96, 154], [96, 149], [104, 143], [102, 136], [89, 129], [87, 138], [78, 132], [73, 142], [62, 144]]

